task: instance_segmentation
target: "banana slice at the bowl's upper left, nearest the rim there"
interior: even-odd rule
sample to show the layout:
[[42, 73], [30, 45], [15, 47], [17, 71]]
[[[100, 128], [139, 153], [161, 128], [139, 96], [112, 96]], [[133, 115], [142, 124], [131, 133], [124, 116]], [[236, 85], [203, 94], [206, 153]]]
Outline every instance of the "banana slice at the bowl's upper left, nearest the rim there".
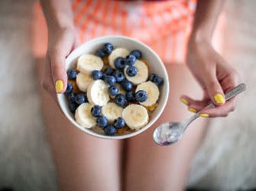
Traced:
[[81, 73], [91, 74], [93, 70], [102, 70], [103, 61], [92, 54], [83, 54], [77, 60], [77, 70]]

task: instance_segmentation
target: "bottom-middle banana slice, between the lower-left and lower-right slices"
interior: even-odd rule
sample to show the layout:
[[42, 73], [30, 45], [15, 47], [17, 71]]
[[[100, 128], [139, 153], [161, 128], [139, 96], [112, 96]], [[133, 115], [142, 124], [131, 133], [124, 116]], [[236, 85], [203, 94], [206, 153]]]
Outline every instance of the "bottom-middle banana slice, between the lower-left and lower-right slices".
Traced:
[[122, 117], [123, 108], [113, 102], [109, 102], [102, 106], [102, 115], [108, 118], [109, 122], [113, 122], [116, 118]]

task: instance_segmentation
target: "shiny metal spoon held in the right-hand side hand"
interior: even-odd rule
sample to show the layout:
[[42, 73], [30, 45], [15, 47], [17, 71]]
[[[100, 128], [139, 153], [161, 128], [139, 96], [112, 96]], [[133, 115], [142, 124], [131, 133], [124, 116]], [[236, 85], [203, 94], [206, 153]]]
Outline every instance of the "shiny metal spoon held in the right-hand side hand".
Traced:
[[[245, 83], [241, 83], [234, 89], [225, 93], [225, 100], [232, 99], [235, 95], [244, 92], [246, 89]], [[210, 103], [205, 108], [213, 108], [215, 105]], [[154, 141], [161, 146], [167, 146], [173, 144], [180, 140], [187, 126], [190, 125], [192, 121], [199, 118], [199, 112], [180, 122], [167, 122], [159, 125], [153, 134]]]

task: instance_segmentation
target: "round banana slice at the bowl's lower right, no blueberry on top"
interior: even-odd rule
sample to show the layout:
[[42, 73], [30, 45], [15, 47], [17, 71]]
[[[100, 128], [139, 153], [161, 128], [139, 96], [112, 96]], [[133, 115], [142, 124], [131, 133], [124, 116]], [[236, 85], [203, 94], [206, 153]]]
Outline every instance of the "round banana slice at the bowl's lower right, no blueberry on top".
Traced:
[[122, 117], [126, 125], [133, 130], [138, 130], [148, 123], [147, 109], [138, 104], [131, 104], [124, 108]]

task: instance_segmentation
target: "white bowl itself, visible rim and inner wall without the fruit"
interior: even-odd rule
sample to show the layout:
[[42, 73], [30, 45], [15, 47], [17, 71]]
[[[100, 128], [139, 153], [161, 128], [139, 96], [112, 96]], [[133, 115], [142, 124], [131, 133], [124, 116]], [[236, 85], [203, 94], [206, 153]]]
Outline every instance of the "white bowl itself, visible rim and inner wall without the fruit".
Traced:
[[123, 138], [131, 138], [136, 134], [140, 134], [141, 132], [150, 128], [157, 118], [160, 117], [161, 113], [164, 111], [164, 107], [167, 104], [167, 98], [169, 95], [169, 81], [167, 70], [164, 67], [164, 63], [160, 60], [160, 57], [157, 56], [157, 53], [154, 52], [150, 47], [141, 43], [138, 40], [135, 40], [130, 37], [122, 37], [122, 36], [105, 36], [105, 37], [98, 37], [93, 40], [87, 41], [85, 44], [77, 47], [73, 50], [72, 53], [66, 58], [66, 70], [72, 68], [76, 64], [76, 60], [79, 56], [83, 53], [95, 53], [97, 49], [103, 46], [105, 43], [111, 43], [114, 47], [125, 47], [128, 50], [141, 50], [142, 58], [147, 60], [150, 65], [150, 73], [156, 73], [158, 76], [164, 78], [164, 85], [160, 86], [160, 98], [158, 99], [157, 108], [152, 112], [150, 117], [150, 121], [144, 128], [141, 128], [138, 131], [128, 132], [127, 134], [116, 134], [114, 136], [105, 135], [103, 131], [97, 130], [97, 128], [83, 128], [79, 125], [74, 118], [73, 113], [70, 112], [68, 107], [68, 102], [66, 99], [66, 95], [64, 94], [57, 94], [57, 99], [60, 104], [60, 108], [62, 109], [66, 118], [68, 118], [71, 123], [80, 130], [86, 132], [87, 134], [91, 134], [98, 138], [108, 138], [108, 139], [123, 139]]

